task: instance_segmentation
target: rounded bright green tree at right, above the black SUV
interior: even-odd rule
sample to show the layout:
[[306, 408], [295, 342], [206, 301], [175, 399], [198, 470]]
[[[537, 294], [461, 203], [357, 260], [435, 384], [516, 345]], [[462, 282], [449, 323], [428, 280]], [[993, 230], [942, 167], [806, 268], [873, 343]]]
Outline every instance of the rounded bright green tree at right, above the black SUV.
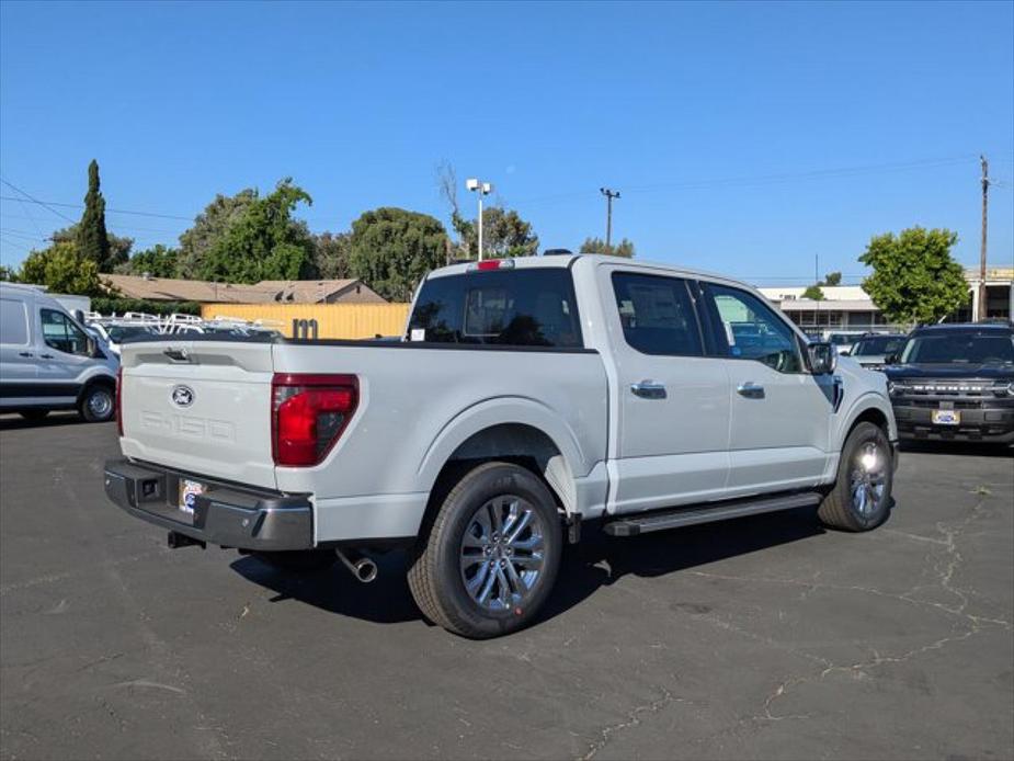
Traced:
[[961, 265], [950, 255], [958, 236], [912, 227], [875, 236], [859, 257], [873, 269], [863, 288], [892, 322], [938, 322], [968, 303]]

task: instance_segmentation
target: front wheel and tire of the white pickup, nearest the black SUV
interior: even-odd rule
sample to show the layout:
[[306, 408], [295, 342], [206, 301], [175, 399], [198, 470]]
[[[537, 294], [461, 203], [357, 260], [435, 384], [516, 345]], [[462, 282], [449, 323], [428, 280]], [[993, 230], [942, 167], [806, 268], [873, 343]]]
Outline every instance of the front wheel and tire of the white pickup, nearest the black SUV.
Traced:
[[869, 531], [887, 520], [891, 508], [895, 463], [890, 442], [873, 423], [852, 429], [838, 466], [838, 480], [817, 514], [844, 531]]

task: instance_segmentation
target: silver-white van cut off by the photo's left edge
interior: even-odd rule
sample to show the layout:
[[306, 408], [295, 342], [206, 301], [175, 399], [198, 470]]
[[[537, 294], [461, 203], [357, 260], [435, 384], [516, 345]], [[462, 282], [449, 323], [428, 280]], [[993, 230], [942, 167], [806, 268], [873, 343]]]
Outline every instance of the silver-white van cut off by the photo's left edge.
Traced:
[[52, 296], [31, 285], [0, 283], [0, 412], [42, 420], [76, 409], [89, 422], [115, 411], [119, 360]]

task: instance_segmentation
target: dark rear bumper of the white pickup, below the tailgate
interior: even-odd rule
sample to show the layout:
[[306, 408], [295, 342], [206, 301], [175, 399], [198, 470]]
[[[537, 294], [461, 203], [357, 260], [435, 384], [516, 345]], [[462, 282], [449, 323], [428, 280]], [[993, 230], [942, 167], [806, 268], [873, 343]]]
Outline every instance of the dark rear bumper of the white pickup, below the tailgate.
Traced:
[[314, 547], [314, 507], [305, 495], [207, 482], [193, 515], [178, 507], [186, 474], [127, 459], [105, 464], [105, 493], [126, 512], [198, 542], [250, 550]]

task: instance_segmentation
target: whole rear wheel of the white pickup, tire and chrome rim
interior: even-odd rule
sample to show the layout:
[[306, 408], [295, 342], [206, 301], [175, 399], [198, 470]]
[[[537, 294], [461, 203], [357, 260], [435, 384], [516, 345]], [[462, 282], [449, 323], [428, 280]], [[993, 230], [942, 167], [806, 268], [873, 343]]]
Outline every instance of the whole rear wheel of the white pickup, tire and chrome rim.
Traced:
[[475, 639], [528, 624], [556, 581], [562, 531], [545, 484], [485, 463], [451, 490], [409, 568], [423, 615]]

